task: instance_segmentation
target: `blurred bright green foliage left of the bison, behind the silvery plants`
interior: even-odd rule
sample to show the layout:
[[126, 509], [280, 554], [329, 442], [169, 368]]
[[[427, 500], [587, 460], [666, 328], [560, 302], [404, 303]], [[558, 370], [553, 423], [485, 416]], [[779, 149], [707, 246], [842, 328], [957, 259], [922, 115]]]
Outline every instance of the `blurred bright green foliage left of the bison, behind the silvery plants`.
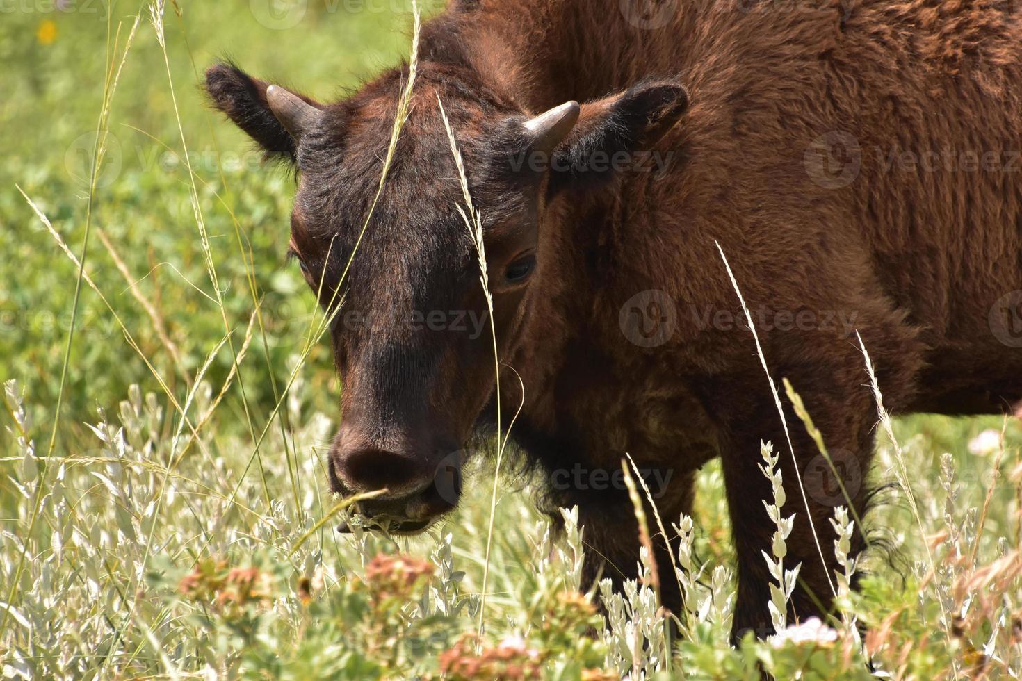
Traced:
[[[433, 4], [437, 4], [435, 1]], [[426, 12], [429, 1], [420, 3]], [[227, 324], [240, 345], [254, 299], [244, 253], [251, 257], [265, 334], [244, 362], [244, 393], [265, 416], [274, 404], [271, 377], [285, 380], [288, 358], [308, 333], [313, 296], [285, 261], [293, 179], [264, 164], [252, 143], [207, 106], [204, 68], [230, 57], [252, 75], [287, 83], [322, 99], [342, 97], [381, 68], [407, 57], [411, 2], [405, 0], [221, 0], [168, 3], [164, 55], [139, 2], [3, 0], [0, 2], [0, 380], [16, 378], [35, 423], [52, 419], [71, 320], [77, 267], [60, 251], [15, 184], [79, 253], [85, 234], [89, 164], [113, 46], [142, 21], [113, 95], [109, 141], [93, 203], [87, 271], [176, 392], [225, 333], [211, 297], [177, 114], [195, 171], [200, 206]], [[120, 36], [118, 32], [120, 31]], [[120, 61], [118, 58], [117, 62]], [[237, 230], [232, 214], [237, 216]], [[96, 229], [98, 228], [98, 229]], [[112, 253], [102, 242], [102, 231]], [[238, 235], [240, 234], [240, 241]], [[122, 263], [118, 263], [120, 259]], [[132, 295], [150, 304], [179, 350], [180, 368], [156, 325]], [[200, 290], [199, 290], [200, 289]], [[205, 294], [205, 295], [203, 295]], [[206, 297], [211, 296], [211, 297]], [[263, 339], [265, 338], [265, 343]], [[325, 344], [310, 361], [327, 412], [337, 385]], [[223, 383], [233, 358], [219, 353], [208, 378]], [[182, 371], [183, 370], [183, 371]], [[113, 315], [85, 287], [76, 323], [62, 419], [80, 424], [109, 406], [132, 383], [158, 384]], [[240, 391], [226, 411], [243, 418]], [[221, 426], [228, 421], [221, 415]], [[74, 426], [72, 426], [74, 428]], [[47, 427], [48, 431], [48, 427]]]

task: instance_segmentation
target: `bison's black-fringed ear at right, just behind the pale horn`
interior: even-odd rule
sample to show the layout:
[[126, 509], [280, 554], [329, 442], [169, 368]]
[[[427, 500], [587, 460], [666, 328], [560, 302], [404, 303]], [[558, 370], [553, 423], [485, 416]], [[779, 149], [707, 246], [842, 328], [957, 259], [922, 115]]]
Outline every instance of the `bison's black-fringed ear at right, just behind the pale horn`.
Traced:
[[689, 97], [670, 81], [640, 83], [582, 105], [578, 121], [550, 159], [550, 193], [606, 182], [628, 156], [652, 148], [688, 109]]

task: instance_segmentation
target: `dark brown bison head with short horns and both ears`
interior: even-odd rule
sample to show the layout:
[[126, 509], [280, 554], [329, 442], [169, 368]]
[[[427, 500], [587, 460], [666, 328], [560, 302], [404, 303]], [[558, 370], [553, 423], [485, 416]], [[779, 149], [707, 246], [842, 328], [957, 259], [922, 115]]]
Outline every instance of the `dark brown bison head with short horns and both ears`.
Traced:
[[[416, 532], [457, 503], [458, 452], [495, 392], [492, 328], [511, 356], [530, 299], [557, 276], [540, 248], [557, 229], [551, 205], [605, 186], [615, 154], [652, 144], [687, 98], [648, 83], [537, 115], [467, 69], [424, 62], [378, 192], [407, 80], [396, 69], [324, 105], [233, 65], [206, 71], [217, 108], [297, 171], [289, 249], [332, 320], [342, 382], [331, 486], [385, 488], [363, 512]], [[481, 214], [493, 320], [440, 101]]]

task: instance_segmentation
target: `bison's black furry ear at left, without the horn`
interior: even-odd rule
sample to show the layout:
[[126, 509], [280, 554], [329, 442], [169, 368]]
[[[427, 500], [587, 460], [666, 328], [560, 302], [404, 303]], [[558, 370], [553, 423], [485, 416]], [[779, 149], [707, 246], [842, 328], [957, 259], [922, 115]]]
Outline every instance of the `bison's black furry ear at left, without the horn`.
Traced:
[[214, 106], [256, 140], [267, 154], [293, 159], [294, 140], [273, 115], [266, 101], [269, 85], [230, 62], [214, 64], [205, 71], [205, 90]]

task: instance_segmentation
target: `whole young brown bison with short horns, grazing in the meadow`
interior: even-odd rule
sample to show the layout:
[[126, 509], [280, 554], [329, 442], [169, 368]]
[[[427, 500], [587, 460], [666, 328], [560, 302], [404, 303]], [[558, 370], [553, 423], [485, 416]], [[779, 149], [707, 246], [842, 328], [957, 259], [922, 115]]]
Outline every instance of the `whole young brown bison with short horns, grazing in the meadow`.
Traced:
[[[365, 510], [419, 531], [456, 502], [442, 464], [494, 421], [489, 324], [453, 323], [485, 319], [486, 303], [442, 100], [484, 225], [504, 423], [523, 400], [513, 437], [550, 472], [553, 500], [579, 505], [589, 577], [635, 574], [636, 523], [612, 476], [625, 452], [664, 483], [652, 491], [667, 519], [721, 456], [735, 630], [764, 633], [774, 528], [760, 439], [784, 450], [789, 486], [806, 480], [828, 561], [843, 499], [787, 404], [794, 457], [781, 446], [715, 243], [772, 373], [801, 394], [856, 505], [876, 409], [854, 331], [892, 411], [1022, 398], [1022, 28], [1014, 3], [994, 0], [638, 4], [647, 11], [465, 0], [428, 21], [364, 233], [407, 66], [330, 104], [230, 64], [206, 85], [296, 165], [290, 249], [325, 305], [343, 300], [336, 491], [385, 487]], [[804, 618], [828, 607], [832, 566], [789, 498], [786, 564], [801, 563], [792, 610]]]

